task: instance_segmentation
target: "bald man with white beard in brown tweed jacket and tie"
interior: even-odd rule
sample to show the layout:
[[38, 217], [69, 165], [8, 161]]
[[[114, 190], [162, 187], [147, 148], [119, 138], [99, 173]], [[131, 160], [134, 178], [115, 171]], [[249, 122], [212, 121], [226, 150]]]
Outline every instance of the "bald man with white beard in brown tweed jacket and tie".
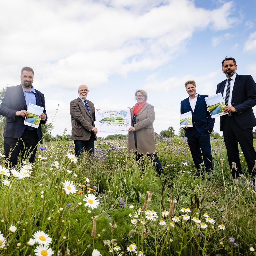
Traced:
[[84, 84], [78, 88], [79, 97], [70, 102], [70, 115], [72, 123], [72, 135], [74, 140], [75, 153], [79, 157], [82, 151], [94, 153], [94, 141], [97, 140], [97, 128], [94, 125], [95, 108], [91, 101], [88, 101], [88, 87]]

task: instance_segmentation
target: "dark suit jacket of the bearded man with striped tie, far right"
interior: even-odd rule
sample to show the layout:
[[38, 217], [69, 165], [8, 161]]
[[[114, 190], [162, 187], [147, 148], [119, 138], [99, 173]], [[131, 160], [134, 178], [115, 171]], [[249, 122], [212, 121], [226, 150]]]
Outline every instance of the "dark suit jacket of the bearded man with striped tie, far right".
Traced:
[[[221, 93], [225, 87], [226, 79], [217, 85], [217, 93]], [[251, 75], [236, 75], [232, 91], [231, 105], [235, 107], [234, 117], [243, 129], [256, 126], [256, 118], [252, 107], [256, 105], [256, 84]], [[222, 131], [222, 117], [220, 120]]]

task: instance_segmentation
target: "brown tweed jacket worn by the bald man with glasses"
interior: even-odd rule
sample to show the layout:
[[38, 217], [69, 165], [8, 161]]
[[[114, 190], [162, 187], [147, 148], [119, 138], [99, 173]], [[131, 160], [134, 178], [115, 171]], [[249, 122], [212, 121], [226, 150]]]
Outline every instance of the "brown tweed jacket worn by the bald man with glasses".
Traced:
[[[72, 124], [72, 140], [89, 140], [91, 137], [91, 130], [95, 121], [95, 108], [91, 101], [87, 101], [91, 116], [86, 109], [84, 103], [78, 97], [70, 102], [70, 115]], [[96, 134], [95, 140], [97, 140]]]

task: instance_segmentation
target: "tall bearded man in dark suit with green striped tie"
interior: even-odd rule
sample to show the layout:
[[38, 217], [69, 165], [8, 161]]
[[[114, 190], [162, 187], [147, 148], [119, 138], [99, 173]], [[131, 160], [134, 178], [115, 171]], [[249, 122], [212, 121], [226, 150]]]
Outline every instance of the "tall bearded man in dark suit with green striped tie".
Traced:
[[222, 71], [227, 79], [217, 85], [217, 93], [221, 93], [225, 108], [225, 113], [220, 119], [221, 131], [230, 169], [232, 163], [236, 163], [237, 170], [232, 169], [232, 177], [242, 174], [239, 159], [238, 142], [243, 151], [250, 173], [255, 174], [254, 164], [256, 152], [253, 147], [253, 127], [256, 126], [256, 118], [252, 107], [256, 105], [256, 84], [251, 75], [236, 74], [236, 60], [225, 58], [222, 61]]

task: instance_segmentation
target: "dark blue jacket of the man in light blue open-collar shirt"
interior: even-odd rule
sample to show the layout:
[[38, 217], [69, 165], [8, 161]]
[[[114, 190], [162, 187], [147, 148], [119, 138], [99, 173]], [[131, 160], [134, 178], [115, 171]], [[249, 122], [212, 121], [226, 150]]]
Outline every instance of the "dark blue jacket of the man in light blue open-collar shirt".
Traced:
[[[35, 90], [35, 98], [37, 105], [44, 108], [43, 113], [46, 115], [45, 110], [45, 97], [40, 91]], [[3, 101], [0, 105], [0, 114], [5, 116], [4, 137], [7, 138], [20, 138], [26, 128], [24, 125], [24, 118], [22, 116], [15, 116], [15, 113], [20, 110], [27, 110], [27, 104], [23, 93], [22, 85], [7, 87]], [[44, 122], [40, 121], [37, 129], [37, 134], [40, 143], [42, 144], [42, 127], [41, 124], [45, 124], [47, 121], [47, 115]]]

